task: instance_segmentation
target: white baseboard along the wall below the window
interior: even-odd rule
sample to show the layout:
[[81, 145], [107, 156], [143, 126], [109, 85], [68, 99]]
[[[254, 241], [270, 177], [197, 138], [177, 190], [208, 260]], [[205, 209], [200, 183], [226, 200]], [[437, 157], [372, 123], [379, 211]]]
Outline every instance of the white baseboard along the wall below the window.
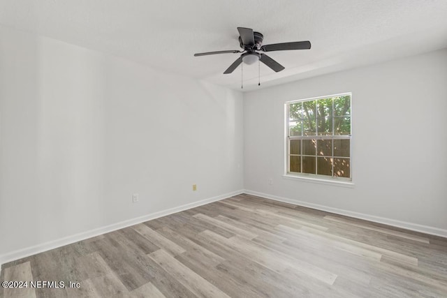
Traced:
[[412, 230], [415, 232], [423, 232], [425, 234], [432, 234], [435, 236], [447, 238], [447, 230], [430, 227], [428, 225], [419, 225], [418, 223], [408, 223], [406, 221], [397, 221], [395, 219], [385, 218], [385, 217], [381, 217], [381, 216], [362, 214], [362, 213], [358, 213], [358, 212], [354, 212], [354, 211], [338, 209], [338, 208], [333, 208], [333, 207], [327, 207], [327, 206], [323, 206], [320, 204], [312, 204], [312, 203], [302, 202], [302, 201], [298, 201], [298, 200], [291, 200], [288, 198], [278, 197], [277, 195], [269, 195], [267, 193], [259, 193], [258, 191], [249, 191], [247, 189], [244, 190], [244, 193], [247, 193], [248, 195], [256, 195], [261, 198], [266, 198], [266, 199], [275, 200], [275, 201], [279, 201], [279, 202], [295, 204], [295, 205], [302, 206], [302, 207], [309, 207], [312, 209], [327, 211], [327, 212], [340, 214], [340, 215], [344, 215], [344, 216], [350, 216], [353, 218], [360, 218], [360, 219], [364, 219], [365, 221], [373, 221], [374, 223], [383, 223], [385, 225], [393, 225], [394, 227], [397, 227], [397, 228], [404, 228], [406, 230]]

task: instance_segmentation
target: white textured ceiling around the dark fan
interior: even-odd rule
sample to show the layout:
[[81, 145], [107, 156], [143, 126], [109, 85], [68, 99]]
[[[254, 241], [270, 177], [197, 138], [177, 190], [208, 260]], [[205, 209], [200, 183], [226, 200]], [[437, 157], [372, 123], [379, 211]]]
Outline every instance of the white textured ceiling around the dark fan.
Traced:
[[[311, 50], [270, 52], [261, 87], [447, 47], [446, 0], [0, 0], [0, 24], [240, 90], [223, 75], [240, 50], [236, 27], [263, 44], [310, 40]], [[258, 66], [244, 66], [244, 91]]]

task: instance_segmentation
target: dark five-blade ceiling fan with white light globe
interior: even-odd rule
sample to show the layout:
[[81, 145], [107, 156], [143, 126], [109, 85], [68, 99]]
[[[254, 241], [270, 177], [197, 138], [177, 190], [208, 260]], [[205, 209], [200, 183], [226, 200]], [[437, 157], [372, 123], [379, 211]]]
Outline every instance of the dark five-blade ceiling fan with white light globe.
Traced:
[[272, 70], [278, 72], [284, 69], [284, 66], [274, 61], [272, 58], [268, 57], [266, 54], [259, 53], [262, 52], [273, 52], [273, 51], [284, 51], [284, 50], [309, 50], [310, 41], [296, 41], [292, 43], [274, 43], [272, 45], [262, 45], [264, 36], [253, 29], [237, 27], [239, 31], [239, 43], [242, 47], [240, 50], [226, 50], [217, 52], [205, 52], [194, 54], [195, 57], [213, 55], [213, 54], [226, 54], [226, 53], [242, 53], [233, 64], [230, 65], [223, 73], [233, 73], [233, 70], [237, 68], [242, 62], [244, 64], [254, 64], [256, 61], [261, 61], [266, 66], [272, 68]]

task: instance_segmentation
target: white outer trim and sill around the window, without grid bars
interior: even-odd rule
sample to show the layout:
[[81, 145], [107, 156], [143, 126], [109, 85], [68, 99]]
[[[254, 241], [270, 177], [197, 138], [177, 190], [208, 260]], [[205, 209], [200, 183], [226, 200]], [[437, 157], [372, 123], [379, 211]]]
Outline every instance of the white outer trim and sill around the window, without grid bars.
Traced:
[[[351, 178], [343, 178], [343, 177], [331, 177], [328, 176], [326, 177], [325, 175], [318, 175], [318, 174], [306, 174], [306, 173], [290, 173], [288, 172], [288, 106], [291, 103], [300, 103], [303, 101], [308, 101], [308, 100], [318, 100], [321, 98], [330, 98], [330, 97], [337, 97], [337, 96], [347, 96], [349, 95], [351, 98], [351, 134], [349, 135], [351, 142], [349, 142], [349, 151], [350, 151], [350, 166], [351, 166]], [[353, 186], [355, 186], [355, 184], [353, 183], [353, 154], [352, 154], [352, 147], [353, 147], [353, 137], [352, 137], [352, 93], [351, 92], [345, 92], [345, 93], [341, 93], [341, 94], [331, 94], [331, 95], [325, 95], [325, 96], [317, 96], [317, 97], [312, 97], [312, 98], [303, 98], [303, 99], [299, 99], [299, 100], [289, 100], [286, 101], [284, 103], [284, 174], [283, 174], [283, 178], [284, 179], [291, 179], [291, 180], [295, 180], [295, 181], [307, 181], [307, 182], [312, 182], [312, 183], [316, 183], [316, 184], [328, 184], [328, 185], [335, 185], [335, 186], [344, 186], [344, 187], [349, 187], [349, 188], [353, 188]], [[315, 136], [315, 137], [309, 137], [312, 139], [320, 139], [320, 136]], [[333, 137], [338, 138], [337, 136]]]

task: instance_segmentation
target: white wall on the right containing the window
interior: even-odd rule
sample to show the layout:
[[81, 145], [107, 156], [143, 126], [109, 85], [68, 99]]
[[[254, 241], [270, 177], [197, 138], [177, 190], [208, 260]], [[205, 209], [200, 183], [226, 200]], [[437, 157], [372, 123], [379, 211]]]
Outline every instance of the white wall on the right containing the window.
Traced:
[[[284, 103], [349, 91], [355, 186], [284, 179]], [[447, 237], [446, 111], [447, 50], [244, 94], [244, 188]]]

